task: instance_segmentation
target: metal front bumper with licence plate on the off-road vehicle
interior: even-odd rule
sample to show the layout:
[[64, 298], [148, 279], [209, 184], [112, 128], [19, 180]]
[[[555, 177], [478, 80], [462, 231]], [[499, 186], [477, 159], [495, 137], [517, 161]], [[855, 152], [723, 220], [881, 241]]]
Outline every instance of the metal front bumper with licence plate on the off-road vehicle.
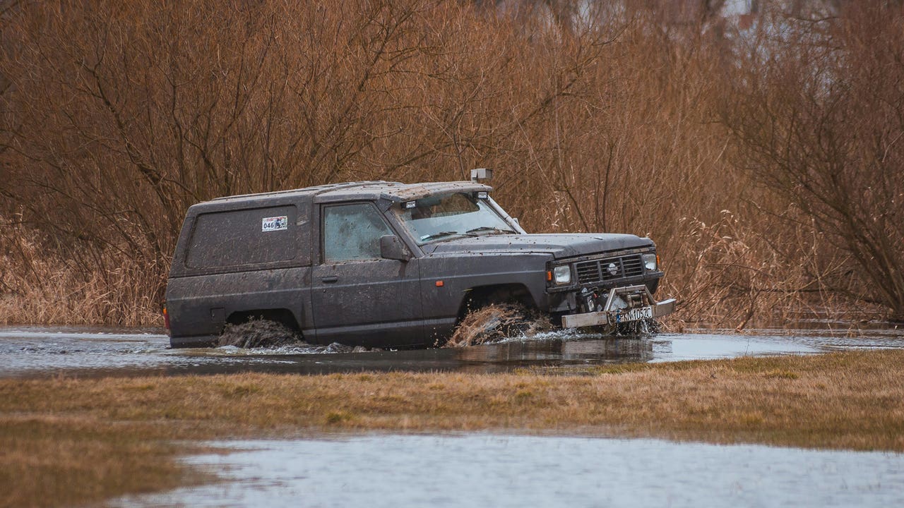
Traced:
[[654, 319], [672, 314], [675, 299], [657, 302], [646, 286], [613, 287], [609, 290], [606, 304], [597, 312], [562, 316], [562, 327], [583, 328], [587, 326], [615, 325], [644, 319]]

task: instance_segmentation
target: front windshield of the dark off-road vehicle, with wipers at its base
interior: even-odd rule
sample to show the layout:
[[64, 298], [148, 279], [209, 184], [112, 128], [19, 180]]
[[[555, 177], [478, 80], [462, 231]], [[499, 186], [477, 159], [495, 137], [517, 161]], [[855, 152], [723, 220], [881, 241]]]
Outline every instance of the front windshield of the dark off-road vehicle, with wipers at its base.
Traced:
[[461, 235], [516, 232], [486, 200], [468, 193], [429, 196], [396, 213], [419, 245]]

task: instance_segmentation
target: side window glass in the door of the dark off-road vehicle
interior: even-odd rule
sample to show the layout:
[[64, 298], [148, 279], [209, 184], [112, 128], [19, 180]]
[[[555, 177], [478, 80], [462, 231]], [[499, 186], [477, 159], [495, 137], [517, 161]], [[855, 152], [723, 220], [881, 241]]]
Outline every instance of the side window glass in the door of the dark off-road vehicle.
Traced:
[[395, 234], [366, 202], [324, 208], [324, 262], [380, 259], [380, 237]]

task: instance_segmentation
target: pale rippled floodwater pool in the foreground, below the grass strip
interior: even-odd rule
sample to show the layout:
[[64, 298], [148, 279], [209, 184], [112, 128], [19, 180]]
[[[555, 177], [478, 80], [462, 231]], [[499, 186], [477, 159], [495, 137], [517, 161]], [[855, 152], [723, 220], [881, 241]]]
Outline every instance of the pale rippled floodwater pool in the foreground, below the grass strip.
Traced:
[[226, 481], [114, 506], [904, 505], [904, 455], [656, 439], [363, 436], [214, 443]]

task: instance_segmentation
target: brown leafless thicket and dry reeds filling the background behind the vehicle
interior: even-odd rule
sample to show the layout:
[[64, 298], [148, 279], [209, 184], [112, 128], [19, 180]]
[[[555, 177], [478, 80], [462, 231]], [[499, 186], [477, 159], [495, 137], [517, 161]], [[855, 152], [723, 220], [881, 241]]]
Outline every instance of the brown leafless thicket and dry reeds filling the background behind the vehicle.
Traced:
[[899, 3], [715, 4], [0, 3], [0, 322], [158, 325], [193, 202], [473, 167], [656, 240], [673, 326], [904, 318]]

